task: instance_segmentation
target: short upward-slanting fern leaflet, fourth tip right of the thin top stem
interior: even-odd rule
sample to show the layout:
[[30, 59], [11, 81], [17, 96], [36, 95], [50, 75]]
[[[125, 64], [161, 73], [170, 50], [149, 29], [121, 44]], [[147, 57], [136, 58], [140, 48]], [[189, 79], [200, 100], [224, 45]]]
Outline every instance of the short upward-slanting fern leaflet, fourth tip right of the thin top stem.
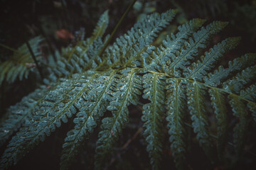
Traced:
[[221, 57], [235, 48], [240, 42], [240, 38], [227, 38], [223, 42], [214, 45], [213, 48], [206, 52], [204, 56], [201, 56], [201, 60], [194, 62], [188, 67], [188, 72], [185, 73], [186, 78], [196, 78], [196, 80], [201, 81], [207, 74], [207, 71], [215, 67], [216, 62], [220, 60]]

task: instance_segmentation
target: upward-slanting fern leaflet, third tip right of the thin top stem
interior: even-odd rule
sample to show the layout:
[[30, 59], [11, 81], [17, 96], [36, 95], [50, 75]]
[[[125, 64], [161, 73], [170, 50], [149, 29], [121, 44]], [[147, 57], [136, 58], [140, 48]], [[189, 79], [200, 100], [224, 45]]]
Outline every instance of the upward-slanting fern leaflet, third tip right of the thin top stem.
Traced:
[[169, 66], [164, 70], [171, 75], [180, 75], [181, 69], [183, 72], [187, 69], [187, 65], [190, 64], [190, 60], [193, 60], [198, 53], [198, 48], [206, 48], [208, 40], [222, 30], [228, 23], [215, 21], [210, 23], [206, 28], [202, 27], [198, 32], [193, 33], [193, 37], [189, 38], [181, 49], [176, 52], [176, 57], [172, 57], [169, 61]]

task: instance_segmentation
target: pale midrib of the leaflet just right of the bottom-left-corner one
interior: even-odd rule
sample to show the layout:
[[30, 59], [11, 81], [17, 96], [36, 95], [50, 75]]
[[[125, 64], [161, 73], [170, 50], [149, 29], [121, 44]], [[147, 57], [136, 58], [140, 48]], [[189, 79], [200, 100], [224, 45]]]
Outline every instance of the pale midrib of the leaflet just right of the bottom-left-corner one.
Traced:
[[[107, 86], [105, 86], [104, 91], [102, 91], [102, 94], [100, 95], [99, 100], [97, 101], [97, 103], [95, 104], [95, 106], [92, 108], [92, 111], [90, 111], [89, 115], [87, 116], [87, 119], [84, 121], [84, 123], [82, 123], [80, 130], [78, 131], [78, 133], [77, 133], [77, 134], [75, 135], [75, 137], [74, 137], [75, 139], [78, 137], [78, 134], [80, 134], [82, 128], [83, 128], [83, 127], [85, 126], [85, 124], [87, 123], [88, 118], [90, 118], [90, 117], [92, 116], [92, 113], [93, 113], [93, 111], [95, 110], [96, 106], [100, 103], [100, 101], [102, 101], [102, 96], [105, 94], [105, 92], [107, 91], [107, 89], [109, 89], [109, 87], [112, 85], [110, 82], [111, 82], [111, 80], [112, 80], [113, 75], [114, 75], [115, 72], [116, 72], [116, 71], [113, 70], [112, 73], [110, 74], [110, 77], [111, 77], [111, 78], [109, 79], [109, 81], [107, 81]], [[73, 145], [73, 148], [74, 148], [74, 147], [75, 147], [75, 145]], [[70, 152], [69, 152], [68, 155], [70, 155], [71, 152], [72, 152], [72, 149], [70, 149]]]

